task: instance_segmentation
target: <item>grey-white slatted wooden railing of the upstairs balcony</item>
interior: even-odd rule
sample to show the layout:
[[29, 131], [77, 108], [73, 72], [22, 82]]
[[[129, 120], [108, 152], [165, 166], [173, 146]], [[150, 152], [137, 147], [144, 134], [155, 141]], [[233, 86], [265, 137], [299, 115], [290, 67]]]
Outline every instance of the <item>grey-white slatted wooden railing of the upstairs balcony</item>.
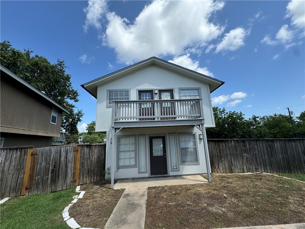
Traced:
[[113, 101], [114, 122], [203, 119], [202, 99]]

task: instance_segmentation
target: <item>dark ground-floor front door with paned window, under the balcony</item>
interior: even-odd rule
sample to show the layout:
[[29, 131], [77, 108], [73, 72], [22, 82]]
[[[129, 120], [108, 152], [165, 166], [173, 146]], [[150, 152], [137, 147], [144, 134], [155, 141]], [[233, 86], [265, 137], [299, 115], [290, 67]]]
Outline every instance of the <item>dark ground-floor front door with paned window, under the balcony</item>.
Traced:
[[150, 174], [167, 174], [165, 136], [149, 137]]

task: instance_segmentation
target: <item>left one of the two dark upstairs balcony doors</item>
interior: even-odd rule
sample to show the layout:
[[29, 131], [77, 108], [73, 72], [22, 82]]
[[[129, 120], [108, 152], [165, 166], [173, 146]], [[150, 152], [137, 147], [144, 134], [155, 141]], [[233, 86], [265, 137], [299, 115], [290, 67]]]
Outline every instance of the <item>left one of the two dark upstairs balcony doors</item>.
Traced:
[[[152, 91], [139, 91], [139, 100], [153, 100]], [[155, 118], [148, 118], [147, 116], [154, 115], [154, 106], [152, 103], [141, 103], [139, 106], [139, 116], [146, 116], [146, 118], [139, 118], [139, 120], [154, 120]]]

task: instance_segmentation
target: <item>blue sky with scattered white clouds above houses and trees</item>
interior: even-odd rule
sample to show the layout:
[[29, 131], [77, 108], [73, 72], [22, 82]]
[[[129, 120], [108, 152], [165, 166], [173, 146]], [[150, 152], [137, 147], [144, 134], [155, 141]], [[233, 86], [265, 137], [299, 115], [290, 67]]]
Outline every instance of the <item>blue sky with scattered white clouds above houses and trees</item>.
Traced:
[[225, 82], [213, 106], [252, 115], [305, 109], [304, 1], [1, 1], [1, 42], [65, 60], [81, 84], [151, 56]]

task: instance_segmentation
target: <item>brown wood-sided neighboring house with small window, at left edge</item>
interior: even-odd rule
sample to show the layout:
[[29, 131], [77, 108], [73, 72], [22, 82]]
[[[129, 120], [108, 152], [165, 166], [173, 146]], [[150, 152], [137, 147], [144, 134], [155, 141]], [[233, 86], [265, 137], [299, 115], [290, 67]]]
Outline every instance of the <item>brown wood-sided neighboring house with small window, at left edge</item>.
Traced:
[[48, 147], [60, 136], [65, 108], [0, 66], [1, 147]]

